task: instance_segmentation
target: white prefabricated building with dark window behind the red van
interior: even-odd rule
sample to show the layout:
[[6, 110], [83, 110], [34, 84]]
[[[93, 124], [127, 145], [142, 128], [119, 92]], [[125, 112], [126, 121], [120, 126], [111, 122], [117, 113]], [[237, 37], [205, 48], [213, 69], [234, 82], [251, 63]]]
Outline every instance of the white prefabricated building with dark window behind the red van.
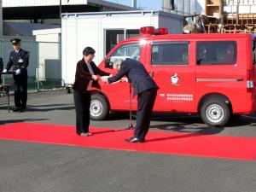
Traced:
[[62, 79], [73, 84], [75, 65], [87, 46], [96, 50], [99, 64], [119, 41], [139, 35], [142, 26], [165, 27], [169, 33], [183, 32], [183, 16], [162, 11], [119, 11], [62, 15]]

